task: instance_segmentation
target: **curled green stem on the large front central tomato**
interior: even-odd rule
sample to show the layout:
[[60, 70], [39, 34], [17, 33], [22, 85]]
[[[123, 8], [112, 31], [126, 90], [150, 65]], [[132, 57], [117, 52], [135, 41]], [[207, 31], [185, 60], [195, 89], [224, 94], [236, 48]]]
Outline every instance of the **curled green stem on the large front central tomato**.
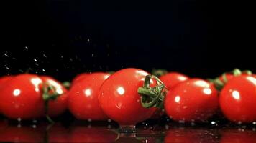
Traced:
[[[157, 86], [150, 87], [150, 81], [155, 79], [157, 81]], [[145, 77], [145, 81], [143, 87], [138, 88], [138, 93], [141, 95], [141, 104], [142, 107], [150, 108], [150, 107], [163, 107], [163, 99], [165, 97], [165, 85], [163, 82], [158, 79], [158, 77], [154, 75], [147, 75]]]

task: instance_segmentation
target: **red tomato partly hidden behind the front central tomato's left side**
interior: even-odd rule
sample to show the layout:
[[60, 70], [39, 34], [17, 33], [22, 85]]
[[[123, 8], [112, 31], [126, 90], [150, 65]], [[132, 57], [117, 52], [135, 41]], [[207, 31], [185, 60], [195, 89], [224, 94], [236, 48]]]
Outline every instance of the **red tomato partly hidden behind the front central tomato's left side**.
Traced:
[[108, 119], [99, 105], [98, 92], [109, 76], [103, 72], [89, 74], [71, 87], [68, 92], [68, 109], [77, 119]]

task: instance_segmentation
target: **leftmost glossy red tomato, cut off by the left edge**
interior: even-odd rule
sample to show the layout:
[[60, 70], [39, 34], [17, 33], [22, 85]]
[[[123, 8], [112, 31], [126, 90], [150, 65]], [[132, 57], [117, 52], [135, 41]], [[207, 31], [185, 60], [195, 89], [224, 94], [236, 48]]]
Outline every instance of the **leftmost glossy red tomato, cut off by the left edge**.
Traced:
[[33, 74], [20, 74], [0, 87], [0, 109], [6, 117], [31, 119], [40, 117], [44, 103], [42, 79]]

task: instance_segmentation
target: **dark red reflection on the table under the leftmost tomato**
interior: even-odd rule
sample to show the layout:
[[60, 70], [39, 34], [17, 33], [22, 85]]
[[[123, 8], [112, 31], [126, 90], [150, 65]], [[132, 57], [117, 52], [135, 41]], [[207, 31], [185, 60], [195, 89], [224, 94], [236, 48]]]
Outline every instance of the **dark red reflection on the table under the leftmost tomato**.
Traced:
[[9, 126], [1, 131], [0, 142], [42, 142], [44, 133], [32, 127]]

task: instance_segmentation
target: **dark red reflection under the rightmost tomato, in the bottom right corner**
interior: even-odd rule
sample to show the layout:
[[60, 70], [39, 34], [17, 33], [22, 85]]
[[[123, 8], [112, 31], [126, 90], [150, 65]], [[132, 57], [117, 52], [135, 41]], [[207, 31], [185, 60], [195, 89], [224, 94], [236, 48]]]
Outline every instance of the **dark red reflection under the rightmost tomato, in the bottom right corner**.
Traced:
[[238, 129], [229, 129], [221, 132], [221, 143], [255, 143], [256, 132], [245, 130], [238, 131]]

